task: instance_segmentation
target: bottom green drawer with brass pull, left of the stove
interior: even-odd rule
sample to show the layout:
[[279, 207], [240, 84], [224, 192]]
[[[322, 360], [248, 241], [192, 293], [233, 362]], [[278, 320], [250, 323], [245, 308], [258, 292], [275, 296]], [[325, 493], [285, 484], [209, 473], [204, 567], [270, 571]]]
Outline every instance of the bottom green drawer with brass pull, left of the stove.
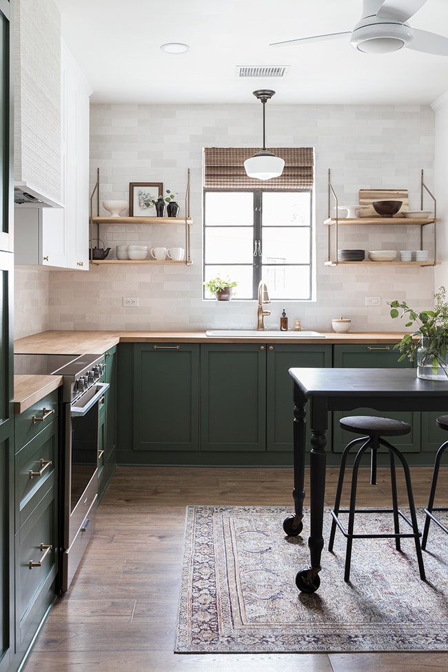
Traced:
[[[47, 547], [51, 546], [51, 549]], [[23, 649], [54, 600], [57, 507], [50, 487], [16, 534], [17, 644]]]

